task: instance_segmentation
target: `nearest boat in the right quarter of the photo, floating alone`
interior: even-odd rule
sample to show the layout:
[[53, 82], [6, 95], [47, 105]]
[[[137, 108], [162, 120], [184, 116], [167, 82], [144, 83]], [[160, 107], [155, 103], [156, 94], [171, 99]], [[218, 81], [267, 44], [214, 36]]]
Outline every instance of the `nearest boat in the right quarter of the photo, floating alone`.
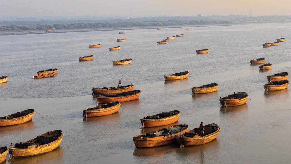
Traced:
[[219, 101], [222, 107], [233, 107], [245, 104], [248, 98], [249, 94], [246, 92], [237, 92], [220, 98]]

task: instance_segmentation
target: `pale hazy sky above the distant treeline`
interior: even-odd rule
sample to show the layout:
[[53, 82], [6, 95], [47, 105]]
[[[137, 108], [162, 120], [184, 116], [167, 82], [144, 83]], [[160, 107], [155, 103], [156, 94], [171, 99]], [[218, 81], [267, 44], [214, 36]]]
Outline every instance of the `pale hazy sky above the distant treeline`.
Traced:
[[291, 0], [8, 0], [1, 17], [291, 15]]

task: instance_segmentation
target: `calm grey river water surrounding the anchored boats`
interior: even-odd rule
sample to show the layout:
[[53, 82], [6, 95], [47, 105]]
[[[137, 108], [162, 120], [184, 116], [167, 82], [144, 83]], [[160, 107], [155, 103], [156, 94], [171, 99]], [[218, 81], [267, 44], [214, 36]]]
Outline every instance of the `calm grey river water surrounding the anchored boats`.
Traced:
[[[0, 36], [0, 114], [33, 108], [32, 121], [1, 127], [0, 147], [24, 142], [61, 129], [60, 147], [47, 154], [6, 163], [289, 163], [291, 160], [290, 90], [265, 92], [267, 76], [291, 73], [291, 23], [48, 33]], [[157, 41], [184, 34], [164, 45]], [[263, 43], [286, 38], [278, 46]], [[116, 39], [127, 38], [126, 42]], [[89, 49], [88, 45], [101, 44]], [[118, 51], [109, 47], [120, 46]], [[196, 50], [208, 48], [208, 54]], [[94, 55], [93, 61], [79, 57]], [[132, 58], [129, 65], [113, 60]], [[260, 72], [250, 60], [264, 57], [272, 70]], [[38, 70], [58, 68], [51, 78], [35, 79]], [[164, 81], [164, 74], [188, 70], [180, 81]], [[119, 112], [83, 118], [96, 106], [93, 86], [130, 83], [141, 90], [138, 100], [121, 103]], [[217, 92], [191, 95], [193, 86], [216, 82]], [[219, 98], [237, 91], [249, 94], [245, 105], [221, 108]], [[179, 121], [190, 129], [200, 122], [221, 127], [216, 140], [180, 149], [178, 144], [136, 149], [132, 137], [157, 130], [140, 129], [140, 118], [178, 109]], [[43, 117], [41, 117], [41, 116]], [[171, 125], [168, 125], [171, 126]], [[7, 157], [8, 158], [8, 157]]]

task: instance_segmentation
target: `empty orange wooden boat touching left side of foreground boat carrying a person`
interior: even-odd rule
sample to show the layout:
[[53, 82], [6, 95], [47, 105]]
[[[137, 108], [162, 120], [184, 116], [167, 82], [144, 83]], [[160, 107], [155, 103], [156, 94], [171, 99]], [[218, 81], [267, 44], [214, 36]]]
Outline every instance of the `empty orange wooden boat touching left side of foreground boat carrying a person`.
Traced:
[[176, 142], [175, 137], [179, 134], [187, 132], [188, 130], [188, 125], [173, 125], [157, 131], [135, 135], [132, 139], [134, 146], [137, 148], [157, 147]]

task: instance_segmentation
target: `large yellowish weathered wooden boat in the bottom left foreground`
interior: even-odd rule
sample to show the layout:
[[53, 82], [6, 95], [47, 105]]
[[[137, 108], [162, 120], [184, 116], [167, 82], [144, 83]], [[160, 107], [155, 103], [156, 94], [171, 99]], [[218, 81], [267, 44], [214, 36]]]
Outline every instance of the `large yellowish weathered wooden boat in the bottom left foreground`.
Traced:
[[44, 154], [58, 148], [63, 139], [61, 130], [48, 131], [26, 142], [11, 145], [9, 151], [12, 158], [22, 158]]

